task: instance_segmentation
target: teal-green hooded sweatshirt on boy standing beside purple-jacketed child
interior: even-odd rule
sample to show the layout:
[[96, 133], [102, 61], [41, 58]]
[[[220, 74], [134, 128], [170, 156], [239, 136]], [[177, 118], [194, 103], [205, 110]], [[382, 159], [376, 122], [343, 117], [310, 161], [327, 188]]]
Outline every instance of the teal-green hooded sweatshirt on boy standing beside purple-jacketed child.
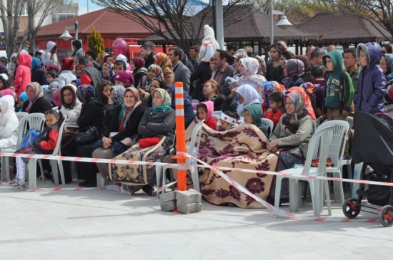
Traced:
[[342, 111], [351, 111], [352, 101], [354, 98], [354, 87], [352, 79], [344, 70], [342, 53], [334, 50], [327, 53], [322, 59], [326, 67], [326, 58], [331, 58], [333, 71], [329, 71], [325, 80], [324, 87], [324, 110], [327, 108], [339, 109]]

